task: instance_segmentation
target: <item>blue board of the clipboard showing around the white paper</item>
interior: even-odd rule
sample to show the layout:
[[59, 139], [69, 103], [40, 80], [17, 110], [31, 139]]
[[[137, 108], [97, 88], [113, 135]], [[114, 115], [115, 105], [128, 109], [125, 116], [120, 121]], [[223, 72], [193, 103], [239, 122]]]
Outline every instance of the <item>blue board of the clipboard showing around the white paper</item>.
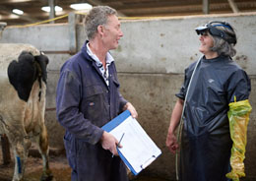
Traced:
[[[101, 128], [106, 131], [106, 132], [110, 132], [111, 130], [113, 130], [114, 128], [116, 128], [118, 125], [120, 125], [123, 121], [125, 121], [129, 116], [131, 116], [131, 113], [129, 110], [125, 110], [124, 112], [122, 112], [121, 114], [119, 114], [117, 117], [115, 117], [114, 119], [112, 119], [111, 121], [109, 121], [107, 124], [105, 124], [104, 126], [102, 126]], [[141, 170], [139, 172], [136, 172], [135, 169], [133, 168], [133, 166], [130, 164], [130, 162], [126, 159], [126, 157], [122, 154], [121, 151], [119, 151], [119, 149], [117, 148], [117, 152], [120, 156], [120, 158], [123, 160], [123, 162], [128, 166], [128, 168], [131, 170], [131, 172], [134, 175], [138, 175], [144, 168], [146, 168], [147, 166], [144, 166], [143, 164], [141, 165]], [[153, 158], [154, 160], [158, 157], [159, 155], [155, 156], [153, 155], [151, 158]], [[150, 158], [150, 159], [151, 159]]]

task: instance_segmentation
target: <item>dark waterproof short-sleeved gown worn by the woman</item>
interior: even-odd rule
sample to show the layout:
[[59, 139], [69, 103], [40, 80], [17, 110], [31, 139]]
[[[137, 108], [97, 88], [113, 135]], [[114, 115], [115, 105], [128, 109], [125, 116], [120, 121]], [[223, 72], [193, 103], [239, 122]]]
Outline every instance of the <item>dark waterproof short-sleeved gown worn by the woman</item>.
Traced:
[[[184, 99], [196, 62], [185, 70], [177, 97]], [[188, 92], [181, 138], [180, 181], [226, 181], [232, 146], [228, 103], [248, 99], [246, 73], [228, 56], [203, 57]]]

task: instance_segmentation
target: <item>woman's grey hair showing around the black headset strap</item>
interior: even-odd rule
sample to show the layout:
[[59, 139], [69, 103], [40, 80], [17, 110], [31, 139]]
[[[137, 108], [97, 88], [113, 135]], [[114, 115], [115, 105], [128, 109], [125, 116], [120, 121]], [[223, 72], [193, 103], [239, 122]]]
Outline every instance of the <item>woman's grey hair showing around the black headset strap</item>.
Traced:
[[[231, 28], [224, 26], [215, 27], [216, 29], [223, 30], [226, 34], [230, 34], [235, 36], [234, 30]], [[211, 35], [209, 33], [209, 35]], [[214, 46], [211, 48], [212, 51], [216, 51], [218, 55], [226, 55], [233, 57], [236, 54], [236, 50], [234, 49], [234, 43], [228, 43], [222, 37], [211, 35], [214, 39]]]

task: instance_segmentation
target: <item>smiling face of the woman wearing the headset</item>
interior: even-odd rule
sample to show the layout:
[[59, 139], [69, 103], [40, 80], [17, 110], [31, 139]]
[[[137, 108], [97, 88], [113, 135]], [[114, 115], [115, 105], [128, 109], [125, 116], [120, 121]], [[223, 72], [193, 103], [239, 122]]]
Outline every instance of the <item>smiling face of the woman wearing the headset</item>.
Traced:
[[213, 51], [210, 48], [214, 46], [214, 39], [211, 35], [209, 35], [209, 32], [203, 32], [200, 35], [199, 40], [201, 42], [199, 51], [202, 52], [204, 55], [209, 53], [212, 54]]

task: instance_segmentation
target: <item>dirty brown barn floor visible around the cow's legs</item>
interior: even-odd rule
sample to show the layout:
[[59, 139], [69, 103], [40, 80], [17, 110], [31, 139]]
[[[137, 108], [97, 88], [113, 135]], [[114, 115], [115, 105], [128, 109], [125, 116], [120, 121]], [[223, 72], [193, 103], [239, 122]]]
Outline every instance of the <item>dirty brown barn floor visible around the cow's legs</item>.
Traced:
[[[14, 173], [14, 159], [11, 152], [12, 161], [8, 165], [3, 165], [3, 156], [0, 143], [0, 181], [11, 181]], [[55, 178], [55, 181], [70, 181], [71, 169], [68, 165], [65, 153], [62, 151], [50, 150], [49, 166]], [[30, 151], [26, 162], [24, 181], [39, 181], [42, 173], [42, 159], [35, 148]], [[164, 179], [148, 176], [134, 177], [130, 176], [130, 181], [166, 181]]]

